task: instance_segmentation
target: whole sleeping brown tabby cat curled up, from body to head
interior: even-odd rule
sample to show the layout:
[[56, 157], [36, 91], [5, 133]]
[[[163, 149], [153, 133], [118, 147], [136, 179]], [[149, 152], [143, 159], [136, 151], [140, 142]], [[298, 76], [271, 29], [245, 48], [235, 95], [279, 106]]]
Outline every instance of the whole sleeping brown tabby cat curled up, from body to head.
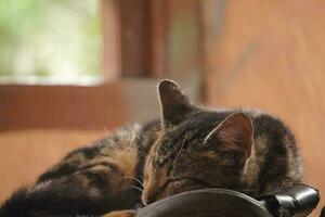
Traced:
[[141, 202], [184, 191], [226, 188], [256, 196], [302, 182], [295, 138], [281, 120], [194, 105], [172, 80], [160, 81], [158, 94], [159, 120], [73, 151], [5, 201], [0, 216], [127, 217]]

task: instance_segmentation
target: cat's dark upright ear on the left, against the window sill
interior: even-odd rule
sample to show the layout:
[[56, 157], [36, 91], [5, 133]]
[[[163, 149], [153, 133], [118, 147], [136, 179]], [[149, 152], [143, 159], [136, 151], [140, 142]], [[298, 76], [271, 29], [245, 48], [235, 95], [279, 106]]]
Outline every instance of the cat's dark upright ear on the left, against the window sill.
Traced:
[[179, 124], [193, 110], [188, 97], [173, 80], [161, 80], [158, 84], [158, 94], [165, 126]]

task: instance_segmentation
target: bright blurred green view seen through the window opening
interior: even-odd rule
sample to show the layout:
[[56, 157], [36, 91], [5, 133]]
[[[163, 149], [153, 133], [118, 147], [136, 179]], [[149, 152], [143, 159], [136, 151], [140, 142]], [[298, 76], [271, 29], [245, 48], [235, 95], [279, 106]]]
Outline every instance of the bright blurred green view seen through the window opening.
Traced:
[[98, 4], [98, 0], [0, 1], [0, 81], [99, 79]]

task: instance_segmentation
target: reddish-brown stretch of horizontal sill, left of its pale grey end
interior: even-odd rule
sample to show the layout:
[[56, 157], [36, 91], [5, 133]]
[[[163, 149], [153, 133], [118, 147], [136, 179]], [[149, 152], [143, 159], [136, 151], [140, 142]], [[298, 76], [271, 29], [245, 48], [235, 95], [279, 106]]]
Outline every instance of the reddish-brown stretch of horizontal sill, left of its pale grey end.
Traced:
[[0, 130], [104, 129], [128, 118], [119, 82], [98, 87], [0, 86]]

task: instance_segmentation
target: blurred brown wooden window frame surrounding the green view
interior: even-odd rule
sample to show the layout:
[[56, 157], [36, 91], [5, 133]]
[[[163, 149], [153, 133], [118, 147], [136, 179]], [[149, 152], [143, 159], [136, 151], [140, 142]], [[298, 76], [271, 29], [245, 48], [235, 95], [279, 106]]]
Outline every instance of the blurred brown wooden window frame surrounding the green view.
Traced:
[[[131, 95], [135, 99], [146, 98], [142, 95], [145, 91], [136, 91], [143, 82], [131, 87], [126, 85], [133, 78], [153, 78], [150, 86], [154, 87], [154, 78], [172, 77], [182, 80], [185, 89], [191, 89], [191, 94], [199, 94], [199, 78], [203, 73], [203, 68], [198, 68], [202, 61], [200, 44], [196, 44], [196, 41], [193, 44], [199, 54], [179, 53], [187, 56], [190, 62], [186, 64], [176, 64], [170, 56], [173, 14], [183, 13], [182, 3], [188, 5], [185, 12], [188, 10], [188, 13], [197, 13], [199, 1], [100, 1], [103, 84], [91, 87], [0, 85], [0, 131], [28, 128], [114, 128], [132, 119], [130, 110], [138, 106], [138, 103], [128, 105], [126, 92], [132, 92]], [[195, 22], [196, 18], [198, 16], [195, 16]], [[183, 44], [186, 46], [192, 44]], [[194, 74], [186, 72], [193, 66], [191, 62], [198, 68]], [[139, 79], [134, 82], [136, 80]], [[188, 88], [188, 84], [194, 86]]]

